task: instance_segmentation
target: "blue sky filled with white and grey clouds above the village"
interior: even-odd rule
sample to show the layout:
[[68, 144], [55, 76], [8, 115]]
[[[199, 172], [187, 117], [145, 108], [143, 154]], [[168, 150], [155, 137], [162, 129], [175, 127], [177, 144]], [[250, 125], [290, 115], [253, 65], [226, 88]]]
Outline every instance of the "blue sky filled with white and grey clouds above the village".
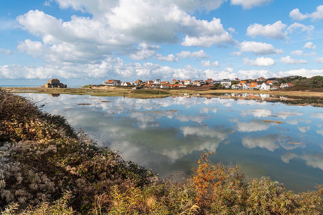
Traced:
[[322, 48], [319, 0], [0, 4], [0, 85], [323, 76]]

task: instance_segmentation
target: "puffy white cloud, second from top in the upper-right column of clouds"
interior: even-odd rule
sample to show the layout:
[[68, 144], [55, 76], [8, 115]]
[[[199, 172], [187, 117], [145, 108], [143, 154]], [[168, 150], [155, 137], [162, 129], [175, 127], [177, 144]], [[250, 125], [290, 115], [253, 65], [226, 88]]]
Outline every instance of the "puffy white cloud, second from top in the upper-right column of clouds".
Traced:
[[282, 21], [277, 21], [274, 24], [268, 24], [263, 26], [261, 24], [253, 24], [247, 28], [248, 36], [265, 36], [266, 38], [284, 39], [287, 36], [287, 31], [284, 29], [287, 27]]

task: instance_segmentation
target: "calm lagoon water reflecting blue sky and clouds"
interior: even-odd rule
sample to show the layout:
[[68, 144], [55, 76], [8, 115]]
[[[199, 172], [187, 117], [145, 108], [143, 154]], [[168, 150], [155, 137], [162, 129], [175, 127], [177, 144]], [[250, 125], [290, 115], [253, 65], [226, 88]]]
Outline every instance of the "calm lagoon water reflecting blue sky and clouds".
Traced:
[[241, 165], [247, 179], [269, 176], [296, 192], [323, 183], [323, 108], [288, 106], [287, 98], [20, 95], [46, 98], [38, 103], [45, 111], [65, 116], [75, 129], [160, 177], [189, 175], [201, 150], [216, 150], [214, 163]]

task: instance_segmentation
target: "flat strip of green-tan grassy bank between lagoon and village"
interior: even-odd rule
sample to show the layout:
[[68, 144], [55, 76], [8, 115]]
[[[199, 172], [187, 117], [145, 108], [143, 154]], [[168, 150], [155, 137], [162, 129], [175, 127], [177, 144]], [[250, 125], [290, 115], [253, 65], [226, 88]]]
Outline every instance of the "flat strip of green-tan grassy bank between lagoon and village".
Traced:
[[[171, 88], [171, 89], [139, 89], [132, 90], [131, 87], [109, 87], [99, 86], [89, 88], [41, 88], [41, 87], [5, 87], [4, 89], [12, 92], [21, 93], [47, 93], [47, 94], [72, 94], [72, 95], [91, 95], [91, 96], [123, 96], [131, 98], [160, 98], [170, 95], [190, 94], [199, 96], [214, 96], [216, 93], [263, 93], [279, 96], [299, 96], [299, 97], [323, 97], [323, 92], [309, 91], [266, 91], [266, 90], [210, 90], [203, 87]], [[150, 93], [151, 91], [160, 93]], [[164, 93], [163, 93], [164, 92]]]

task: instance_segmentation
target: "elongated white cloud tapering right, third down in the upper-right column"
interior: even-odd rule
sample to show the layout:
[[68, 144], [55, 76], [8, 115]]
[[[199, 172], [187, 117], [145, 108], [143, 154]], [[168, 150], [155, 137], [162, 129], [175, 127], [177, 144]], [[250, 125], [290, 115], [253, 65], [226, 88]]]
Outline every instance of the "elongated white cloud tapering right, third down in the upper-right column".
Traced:
[[282, 49], [275, 49], [273, 45], [255, 41], [244, 41], [240, 43], [242, 52], [253, 52], [255, 55], [269, 55], [284, 53]]

